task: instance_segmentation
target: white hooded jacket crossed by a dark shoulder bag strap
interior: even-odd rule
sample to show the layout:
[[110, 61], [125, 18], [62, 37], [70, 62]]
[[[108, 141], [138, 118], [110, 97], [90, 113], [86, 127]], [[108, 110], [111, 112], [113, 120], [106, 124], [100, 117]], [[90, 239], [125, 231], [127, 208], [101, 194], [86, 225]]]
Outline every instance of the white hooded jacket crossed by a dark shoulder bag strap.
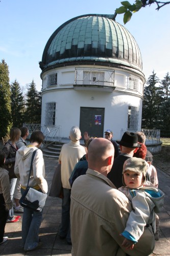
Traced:
[[[27, 187], [30, 166], [31, 166], [31, 159], [32, 159], [33, 152], [35, 150], [37, 150], [37, 147], [29, 145], [29, 146], [22, 146], [17, 151], [14, 172], [16, 177], [20, 178], [20, 183], [22, 188]], [[45, 166], [44, 166], [42, 151], [37, 150], [33, 160], [33, 170], [31, 172], [29, 186], [37, 187], [38, 185], [41, 188], [43, 193], [47, 193], [48, 186], [44, 177], [45, 177]]]

